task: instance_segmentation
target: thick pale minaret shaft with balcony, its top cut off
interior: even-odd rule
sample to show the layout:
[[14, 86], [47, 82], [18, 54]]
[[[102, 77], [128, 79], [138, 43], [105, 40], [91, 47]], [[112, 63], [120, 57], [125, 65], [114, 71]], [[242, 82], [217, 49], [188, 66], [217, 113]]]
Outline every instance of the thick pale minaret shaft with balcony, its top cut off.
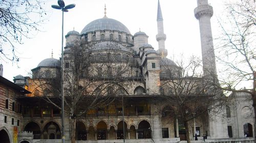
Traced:
[[[208, 0], [197, 0], [195, 17], [199, 20], [204, 76], [216, 76], [214, 43], [212, 41], [210, 18], [214, 10]], [[217, 76], [216, 76], [217, 77]]]

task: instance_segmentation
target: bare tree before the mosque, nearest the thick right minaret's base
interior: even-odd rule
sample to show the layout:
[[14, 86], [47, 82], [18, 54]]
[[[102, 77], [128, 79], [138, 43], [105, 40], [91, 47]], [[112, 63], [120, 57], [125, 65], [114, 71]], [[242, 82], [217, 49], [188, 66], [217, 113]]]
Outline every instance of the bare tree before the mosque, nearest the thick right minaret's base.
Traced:
[[191, 121], [223, 111], [226, 97], [212, 78], [203, 77], [199, 58], [191, 57], [187, 63], [181, 60], [173, 65], [163, 64], [161, 68], [161, 97], [172, 105], [173, 114], [183, 122], [187, 142], [190, 142]]

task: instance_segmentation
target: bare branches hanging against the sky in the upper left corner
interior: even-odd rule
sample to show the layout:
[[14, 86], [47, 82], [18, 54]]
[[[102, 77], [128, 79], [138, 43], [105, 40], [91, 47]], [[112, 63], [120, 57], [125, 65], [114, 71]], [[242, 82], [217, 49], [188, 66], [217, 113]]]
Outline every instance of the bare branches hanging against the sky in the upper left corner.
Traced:
[[[19, 61], [15, 54], [15, 43], [23, 44], [24, 38], [31, 38], [31, 33], [38, 31], [46, 15], [44, 4], [43, 1], [38, 0], [0, 2], [0, 57], [2, 59]], [[11, 55], [9, 50], [12, 52]]]

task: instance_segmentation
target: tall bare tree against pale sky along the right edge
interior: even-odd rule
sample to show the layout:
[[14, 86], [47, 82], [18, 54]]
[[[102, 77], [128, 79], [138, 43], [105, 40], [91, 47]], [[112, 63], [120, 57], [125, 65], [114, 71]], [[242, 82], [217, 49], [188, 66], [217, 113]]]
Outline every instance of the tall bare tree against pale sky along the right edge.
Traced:
[[[255, 1], [239, 0], [228, 3], [224, 17], [225, 19], [219, 18], [222, 35], [218, 38], [216, 49], [218, 61], [223, 66], [220, 72], [224, 73], [219, 80], [221, 89], [249, 93], [256, 114]], [[241, 88], [241, 85], [244, 87]], [[256, 121], [256, 116], [254, 120]]]

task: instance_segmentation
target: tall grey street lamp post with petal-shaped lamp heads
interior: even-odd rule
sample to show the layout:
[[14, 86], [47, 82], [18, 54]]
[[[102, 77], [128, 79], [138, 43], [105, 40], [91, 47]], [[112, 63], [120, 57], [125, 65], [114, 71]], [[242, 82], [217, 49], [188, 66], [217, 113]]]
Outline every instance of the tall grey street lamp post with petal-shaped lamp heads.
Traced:
[[64, 20], [64, 12], [68, 12], [68, 9], [74, 8], [76, 5], [71, 4], [65, 7], [65, 3], [63, 0], [58, 0], [58, 6], [52, 5], [52, 8], [59, 9], [62, 11], [62, 33], [61, 33], [61, 142], [65, 143], [65, 128], [64, 128], [64, 92], [63, 92], [63, 81], [64, 81], [64, 71], [63, 71], [63, 20]]

